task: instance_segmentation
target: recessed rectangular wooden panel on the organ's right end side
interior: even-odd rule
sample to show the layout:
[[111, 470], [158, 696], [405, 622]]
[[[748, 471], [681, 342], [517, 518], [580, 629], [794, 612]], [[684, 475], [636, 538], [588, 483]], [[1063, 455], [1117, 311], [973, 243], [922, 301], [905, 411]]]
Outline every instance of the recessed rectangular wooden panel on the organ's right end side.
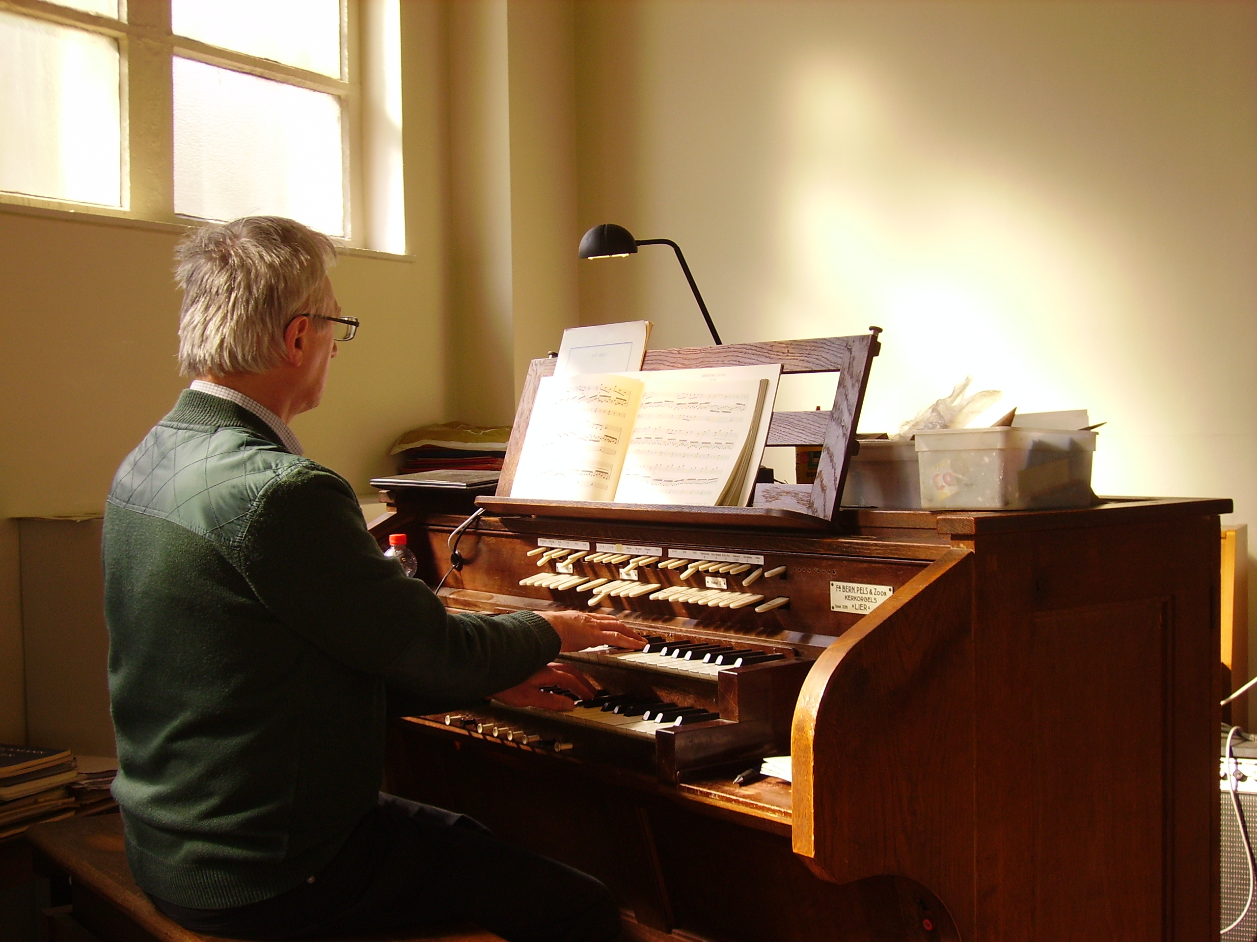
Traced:
[[1161, 599], [1033, 619], [1029, 938], [1166, 937], [1168, 620]]

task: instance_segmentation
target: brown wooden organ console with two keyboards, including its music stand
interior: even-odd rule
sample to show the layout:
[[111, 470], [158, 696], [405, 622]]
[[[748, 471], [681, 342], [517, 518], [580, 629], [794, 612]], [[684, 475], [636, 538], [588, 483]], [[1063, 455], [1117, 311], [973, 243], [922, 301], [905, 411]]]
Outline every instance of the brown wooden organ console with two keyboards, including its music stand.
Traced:
[[561, 654], [597, 690], [566, 712], [393, 720], [386, 788], [592, 873], [632, 938], [1216, 933], [1231, 501], [841, 507], [877, 350], [874, 329], [646, 353], [838, 374], [831, 412], [768, 422], [768, 445], [823, 446], [816, 484], [752, 506], [510, 496], [553, 359], [483, 516], [386, 485], [372, 533], [407, 535], [447, 609], [596, 610], [647, 638]]

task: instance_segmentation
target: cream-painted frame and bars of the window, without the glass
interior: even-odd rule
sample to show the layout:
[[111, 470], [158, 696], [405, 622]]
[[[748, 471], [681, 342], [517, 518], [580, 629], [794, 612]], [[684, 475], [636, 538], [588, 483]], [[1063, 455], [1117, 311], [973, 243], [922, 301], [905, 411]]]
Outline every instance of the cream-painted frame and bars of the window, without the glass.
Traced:
[[[118, 44], [121, 128], [121, 202], [118, 207], [0, 190], [0, 208], [23, 207], [45, 215], [98, 216], [180, 229], [204, 220], [175, 212], [173, 59], [181, 57], [259, 78], [333, 94], [341, 99], [342, 192], [346, 236], [334, 241], [371, 255], [397, 256], [367, 247], [367, 134], [363, 128], [363, 36], [360, 0], [339, 0], [341, 77], [285, 65], [210, 45], [171, 30], [171, 0], [119, 0], [118, 19], [60, 6], [47, 0], [0, 0], [0, 10], [112, 38]], [[165, 226], [163, 226], [165, 227]]]

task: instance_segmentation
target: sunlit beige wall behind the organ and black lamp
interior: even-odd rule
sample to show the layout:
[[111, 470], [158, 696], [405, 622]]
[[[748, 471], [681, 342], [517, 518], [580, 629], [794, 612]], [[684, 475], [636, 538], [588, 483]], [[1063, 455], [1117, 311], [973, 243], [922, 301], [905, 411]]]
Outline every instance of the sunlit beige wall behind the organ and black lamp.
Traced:
[[[973, 373], [1107, 421], [1101, 492], [1257, 514], [1257, 4], [592, 0], [577, 43], [581, 226], [679, 241], [725, 339], [877, 324], [864, 430]], [[581, 305], [708, 343], [666, 249]]]

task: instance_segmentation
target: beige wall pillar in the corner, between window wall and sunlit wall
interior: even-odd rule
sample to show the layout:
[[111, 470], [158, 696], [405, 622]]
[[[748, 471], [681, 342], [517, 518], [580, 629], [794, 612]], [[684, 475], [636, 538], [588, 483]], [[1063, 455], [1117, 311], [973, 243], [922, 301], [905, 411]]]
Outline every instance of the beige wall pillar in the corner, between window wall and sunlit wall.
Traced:
[[450, 399], [509, 423], [577, 315], [572, 0], [449, 6]]

